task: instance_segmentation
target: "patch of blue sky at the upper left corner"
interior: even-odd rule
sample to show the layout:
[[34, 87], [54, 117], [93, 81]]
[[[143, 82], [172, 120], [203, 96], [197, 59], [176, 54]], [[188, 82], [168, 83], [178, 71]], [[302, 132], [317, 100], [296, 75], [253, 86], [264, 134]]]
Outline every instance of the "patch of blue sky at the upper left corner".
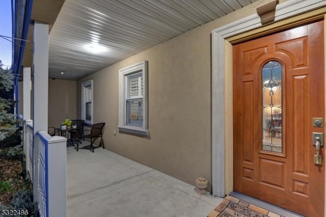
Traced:
[[[0, 0], [0, 36], [12, 37], [11, 0]], [[8, 39], [8, 38], [7, 38]], [[12, 41], [11, 39], [9, 39]], [[11, 67], [12, 43], [0, 38], [0, 60], [5, 68]]]

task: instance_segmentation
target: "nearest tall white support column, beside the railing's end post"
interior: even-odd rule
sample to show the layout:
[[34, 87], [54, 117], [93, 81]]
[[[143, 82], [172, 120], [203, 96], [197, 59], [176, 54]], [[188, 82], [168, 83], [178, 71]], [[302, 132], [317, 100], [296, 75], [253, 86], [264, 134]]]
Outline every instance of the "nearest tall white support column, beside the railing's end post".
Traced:
[[[49, 56], [49, 25], [45, 23], [34, 22], [34, 109], [33, 109], [33, 127], [34, 141], [36, 132], [47, 132], [48, 118], [48, 56]], [[39, 147], [34, 142], [34, 170], [33, 170], [33, 193], [34, 201], [38, 201], [37, 180], [38, 180], [38, 159]]]

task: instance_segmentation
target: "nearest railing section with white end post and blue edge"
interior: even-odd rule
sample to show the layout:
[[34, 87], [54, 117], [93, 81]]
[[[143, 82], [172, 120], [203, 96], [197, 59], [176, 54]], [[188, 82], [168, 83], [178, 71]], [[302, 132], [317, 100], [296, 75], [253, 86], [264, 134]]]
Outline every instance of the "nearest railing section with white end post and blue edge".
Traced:
[[[67, 139], [36, 133], [38, 151], [37, 201], [41, 217], [67, 216]], [[36, 181], [35, 180], [35, 181]]]

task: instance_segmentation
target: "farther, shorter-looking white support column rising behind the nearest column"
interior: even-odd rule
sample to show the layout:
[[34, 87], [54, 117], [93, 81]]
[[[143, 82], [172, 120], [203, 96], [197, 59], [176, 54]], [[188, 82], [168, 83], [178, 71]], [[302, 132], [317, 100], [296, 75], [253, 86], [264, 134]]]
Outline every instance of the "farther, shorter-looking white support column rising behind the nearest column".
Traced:
[[32, 81], [31, 81], [31, 68], [24, 67], [23, 69], [23, 120], [31, 119], [31, 90], [32, 90]]

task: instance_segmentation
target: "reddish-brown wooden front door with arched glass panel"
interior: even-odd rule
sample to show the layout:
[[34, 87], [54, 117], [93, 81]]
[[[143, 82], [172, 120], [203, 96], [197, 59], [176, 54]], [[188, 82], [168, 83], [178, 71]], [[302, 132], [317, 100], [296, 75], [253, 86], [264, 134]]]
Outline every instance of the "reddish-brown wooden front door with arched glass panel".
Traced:
[[[233, 45], [234, 191], [324, 216], [323, 21]], [[324, 137], [324, 135], [323, 135]]]

